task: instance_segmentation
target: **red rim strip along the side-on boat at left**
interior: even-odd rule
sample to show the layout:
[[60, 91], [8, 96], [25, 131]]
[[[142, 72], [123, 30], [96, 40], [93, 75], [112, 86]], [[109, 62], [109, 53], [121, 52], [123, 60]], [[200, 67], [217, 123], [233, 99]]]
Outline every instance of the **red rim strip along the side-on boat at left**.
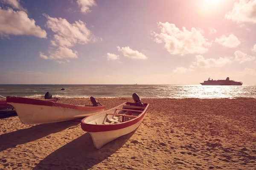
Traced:
[[[67, 109], [75, 109], [75, 110], [99, 110], [105, 109], [105, 106], [79, 106], [79, 105], [70, 105], [65, 103], [57, 103], [49, 100], [41, 100], [41, 99], [31, 99], [26, 97], [16, 97], [16, 96], [7, 96], [6, 102], [9, 103], [19, 103], [19, 104], [28, 104], [28, 105], [40, 105], [40, 106], [51, 106], [56, 108], [67, 108]], [[12, 105], [12, 104], [11, 104]]]

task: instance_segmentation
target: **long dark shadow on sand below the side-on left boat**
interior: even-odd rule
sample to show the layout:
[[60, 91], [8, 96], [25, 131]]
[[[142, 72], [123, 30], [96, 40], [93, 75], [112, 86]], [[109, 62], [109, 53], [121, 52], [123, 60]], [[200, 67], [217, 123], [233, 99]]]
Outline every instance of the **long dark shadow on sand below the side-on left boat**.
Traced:
[[0, 135], [0, 151], [15, 147], [17, 144], [35, 141], [78, 124], [78, 122], [46, 123], [2, 134]]

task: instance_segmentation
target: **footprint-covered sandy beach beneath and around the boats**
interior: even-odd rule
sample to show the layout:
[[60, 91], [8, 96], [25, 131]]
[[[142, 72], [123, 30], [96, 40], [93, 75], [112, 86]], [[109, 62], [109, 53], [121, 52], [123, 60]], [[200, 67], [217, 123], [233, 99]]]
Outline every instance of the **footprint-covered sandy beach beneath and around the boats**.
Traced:
[[[106, 109], [131, 98], [100, 98]], [[255, 99], [142, 99], [140, 127], [97, 150], [76, 122], [0, 119], [0, 169], [256, 169]], [[61, 98], [90, 105], [88, 98]]]

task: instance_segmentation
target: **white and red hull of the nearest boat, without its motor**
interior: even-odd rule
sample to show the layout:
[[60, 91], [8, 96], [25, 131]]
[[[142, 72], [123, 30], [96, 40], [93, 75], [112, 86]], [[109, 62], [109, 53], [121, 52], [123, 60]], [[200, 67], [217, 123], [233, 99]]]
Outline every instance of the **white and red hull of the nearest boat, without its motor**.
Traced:
[[[140, 114], [138, 116], [135, 116], [134, 119], [130, 119], [126, 122], [119, 122], [117, 124], [112, 124], [112, 125], [104, 124], [104, 121], [107, 119], [106, 117], [111, 115], [117, 115], [118, 114], [117, 111], [119, 110], [128, 111], [129, 109], [128, 110], [123, 109], [123, 106], [128, 107], [125, 104], [126, 103], [119, 105], [116, 108], [113, 108], [111, 110], [95, 114], [93, 116], [88, 116], [81, 121], [81, 128], [84, 131], [90, 133], [93, 139], [93, 144], [97, 149], [103, 147], [108, 142], [111, 142], [112, 140], [119, 138], [120, 136], [131, 133], [132, 131], [136, 130], [140, 126], [141, 122], [143, 121], [147, 113], [149, 104], [146, 104], [146, 107], [144, 107], [144, 110], [139, 111]], [[143, 107], [140, 107], [140, 108], [143, 108]], [[120, 114], [120, 115], [123, 115], [123, 114]], [[100, 122], [101, 124], [99, 124]]]

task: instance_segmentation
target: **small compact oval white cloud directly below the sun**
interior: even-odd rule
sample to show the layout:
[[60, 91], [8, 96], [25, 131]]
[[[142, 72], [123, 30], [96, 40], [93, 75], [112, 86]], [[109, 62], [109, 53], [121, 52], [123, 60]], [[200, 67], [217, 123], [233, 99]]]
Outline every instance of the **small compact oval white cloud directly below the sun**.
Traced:
[[224, 47], [229, 48], [235, 48], [241, 43], [239, 39], [233, 34], [230, 34], [228, 37], [226, 35], [222, 35], [221, 37], [216, 38], [215, 42], [218, 42]]

